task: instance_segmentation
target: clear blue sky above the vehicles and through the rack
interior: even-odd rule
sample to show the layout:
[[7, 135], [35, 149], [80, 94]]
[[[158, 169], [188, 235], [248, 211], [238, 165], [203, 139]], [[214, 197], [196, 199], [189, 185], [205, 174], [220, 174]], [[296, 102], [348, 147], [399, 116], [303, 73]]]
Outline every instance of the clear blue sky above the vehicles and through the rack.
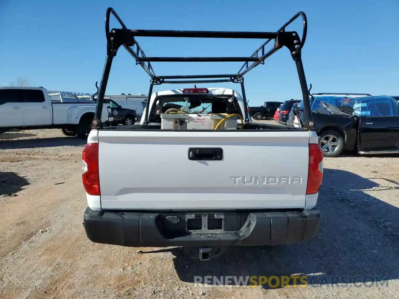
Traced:
[[[302, 60], [312, 92], [399, 94], [399, 1], [0, 1], [0, 85], [26, 77], [31, 86], [95, 92], [103, 71], [105, 11], [130, 29], [275, 31], [302, 10], [308, 36]], [[111, 23], [116, 27], [116, 23]], [[300, 21], [287, 30], [302, 33]], [[138, 37], [147, 56], [249, 56], [255, 39]], [[153, 63], [156, 75], [236, 73], [242, 63]], [[190, 85], [192, 86], [192, 85]], [[213, 87], [239, 89], [233, 83]], [[121, 47], [107, 94], [145, 93], [149, 76]], [[188, 87], [161, 85], [154, 90]], [[197, 87], [206, 87], [198, 84]], [[208, 85], [208, 87], [211, 87]], [[281, 49], [245, 76], [249, 104], [301, 98], [294, 62]]]

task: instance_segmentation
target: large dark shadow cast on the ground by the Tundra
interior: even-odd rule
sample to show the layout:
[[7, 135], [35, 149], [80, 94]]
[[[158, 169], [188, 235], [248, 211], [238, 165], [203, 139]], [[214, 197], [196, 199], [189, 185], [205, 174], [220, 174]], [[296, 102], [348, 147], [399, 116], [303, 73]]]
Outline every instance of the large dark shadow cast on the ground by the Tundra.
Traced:
[[[316, 239], [288, 246], [230, 248], [219, 259], [205, 262], [192, 260], [181, 248], [173, 248], [170, 251], [176, 256], [174, 265], [180, 279], [195, 283], [209, 275], [245, 279], [252, 275], [302, 274], [314, 287], [362, 281], [387, 285], [390, 279], [398, 279], [397, 207], [365, 194], [364, 189], [378, 187], [369, 179], [336, 169], [324, 169], [324, 177], [316, 206], [322, 210], [322, 227]], [[213, 284], [212, 280], [208, 282]], [[276, 282], [273, 280], [272, 285]], [[297, 283], [301, 283], [299, 279]], [[234, 284], [234, 280], [222, 284]], [[263, 287], [271, 288], [268, 283]]]

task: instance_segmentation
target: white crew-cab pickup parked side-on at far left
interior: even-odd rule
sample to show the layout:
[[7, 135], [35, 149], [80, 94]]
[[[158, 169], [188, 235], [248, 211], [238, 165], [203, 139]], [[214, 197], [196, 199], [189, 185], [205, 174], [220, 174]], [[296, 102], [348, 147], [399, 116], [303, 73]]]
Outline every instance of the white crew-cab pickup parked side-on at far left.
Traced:
[[[109, 120], [103, 104], [101, 121]], [[86, 139], [94, 118], [95, 103], [52, 102], [42, 87], [0, 87], [0, 130], [11, 128], [60, 128], [67, 136]]]

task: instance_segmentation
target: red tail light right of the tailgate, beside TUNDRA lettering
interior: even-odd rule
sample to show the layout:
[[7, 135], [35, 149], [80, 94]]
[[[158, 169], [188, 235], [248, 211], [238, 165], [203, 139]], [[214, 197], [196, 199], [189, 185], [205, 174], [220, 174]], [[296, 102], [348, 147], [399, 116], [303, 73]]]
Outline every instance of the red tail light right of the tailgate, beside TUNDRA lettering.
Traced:
[[323, 152], [318, 144], [309, 144], [308, 186], [306, 194], [315, 194], [323, 182]]

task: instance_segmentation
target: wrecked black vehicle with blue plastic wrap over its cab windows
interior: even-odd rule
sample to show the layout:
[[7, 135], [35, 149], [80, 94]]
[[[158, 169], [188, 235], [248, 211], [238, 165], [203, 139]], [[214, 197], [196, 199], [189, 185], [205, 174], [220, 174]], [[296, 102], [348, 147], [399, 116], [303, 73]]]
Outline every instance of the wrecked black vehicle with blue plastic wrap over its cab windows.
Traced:
[[312, 111], [324, 156], [337, 157], [344, 150], [360, 155], [399, 153], [399, 96], [365, 96], [351, 101], [352, 111], [323, 101]]

